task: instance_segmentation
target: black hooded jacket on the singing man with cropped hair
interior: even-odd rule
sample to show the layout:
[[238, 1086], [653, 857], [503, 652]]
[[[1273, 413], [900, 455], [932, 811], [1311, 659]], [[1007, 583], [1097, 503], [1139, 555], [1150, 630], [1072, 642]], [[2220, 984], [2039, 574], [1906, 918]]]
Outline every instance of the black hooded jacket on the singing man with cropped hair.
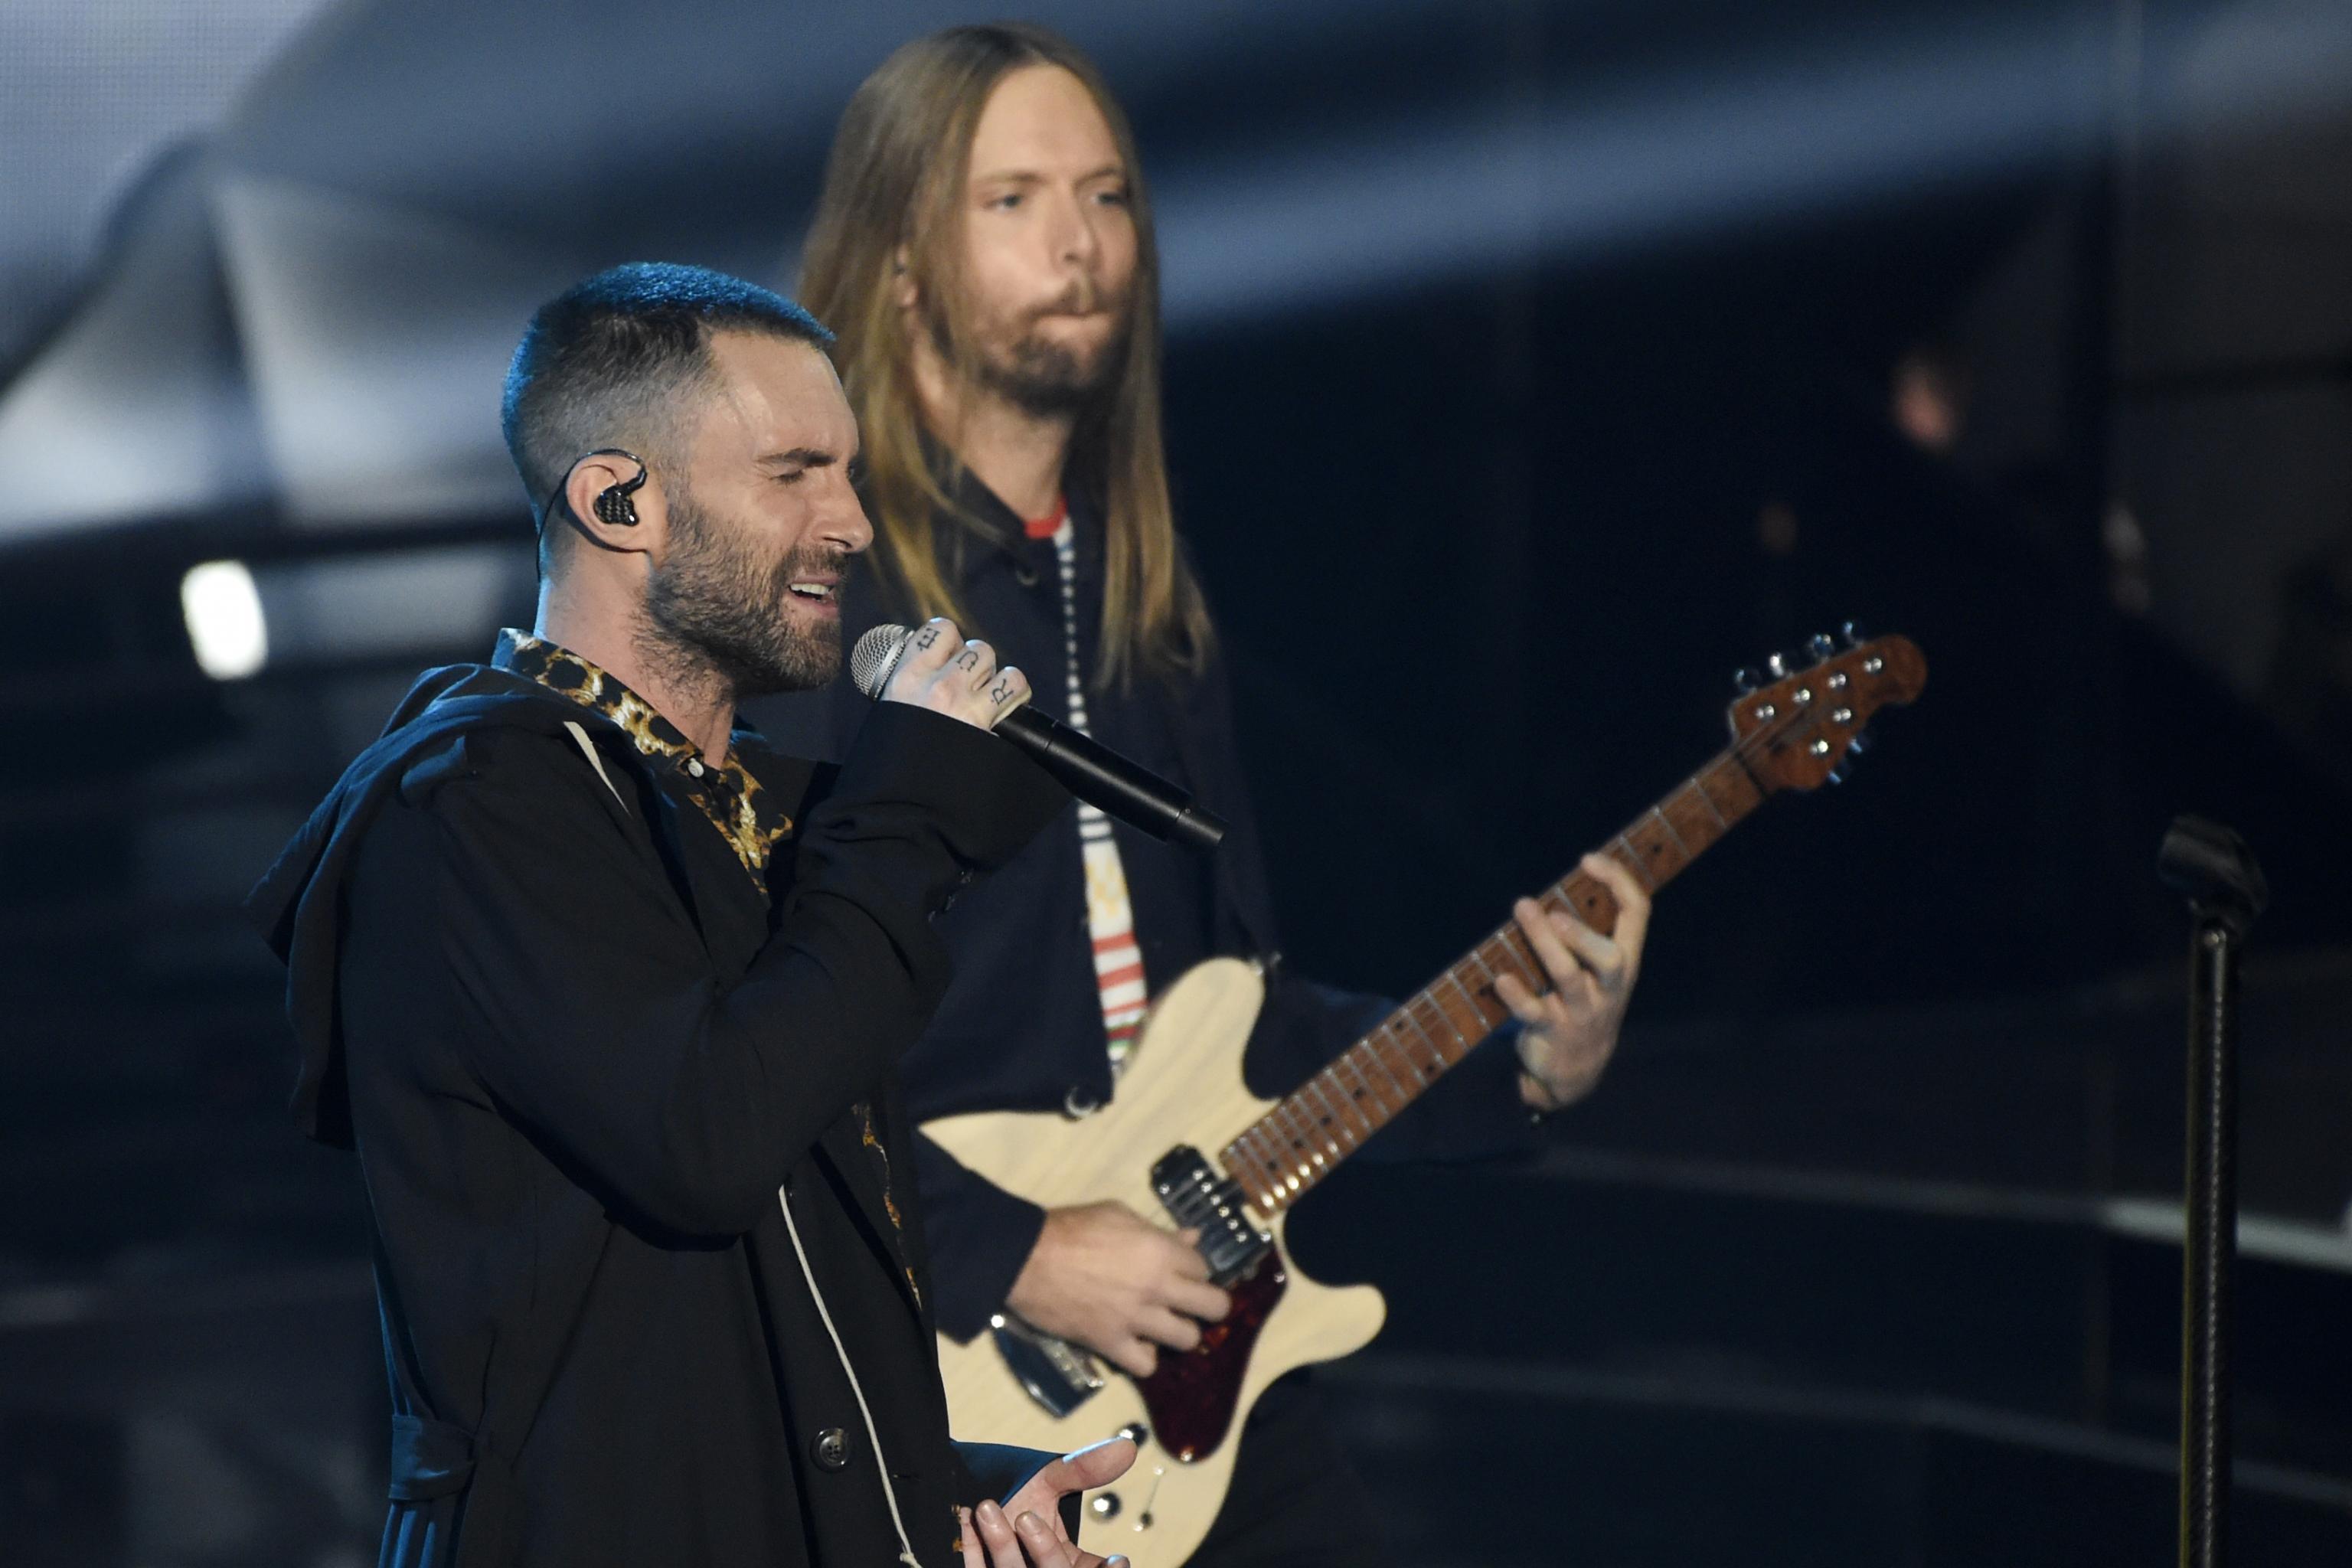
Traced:
[[440, 670], [256, 889], [296, 1112], [374, 1213], [386, 1568], [866, 1568], [891, 1502], [948, 1563], [1016, 1479], [948, 1443], [920, 1222], [851, 1107], [903, 1171], [931, 917], [1065, 797], [903, 705], [837, 771], [743, 745], [795, 804], [769, 896], [607, 719]]

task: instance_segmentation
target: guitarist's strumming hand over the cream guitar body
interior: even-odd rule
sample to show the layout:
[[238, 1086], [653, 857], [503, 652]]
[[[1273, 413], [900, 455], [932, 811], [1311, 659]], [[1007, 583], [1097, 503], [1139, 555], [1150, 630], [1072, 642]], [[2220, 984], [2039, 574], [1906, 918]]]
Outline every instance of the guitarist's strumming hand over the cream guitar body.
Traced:
[[1030, 1326], [1150, 1378], [1157, 1347], [1192, 1349], [1200, 1324], [1216, 1324], [1232, 1305], [1209, 1284], [1195, 1241], [1200, 1232], [1160, 1229], [1127, 1204], [1049, 1208], [1004, 1305]]

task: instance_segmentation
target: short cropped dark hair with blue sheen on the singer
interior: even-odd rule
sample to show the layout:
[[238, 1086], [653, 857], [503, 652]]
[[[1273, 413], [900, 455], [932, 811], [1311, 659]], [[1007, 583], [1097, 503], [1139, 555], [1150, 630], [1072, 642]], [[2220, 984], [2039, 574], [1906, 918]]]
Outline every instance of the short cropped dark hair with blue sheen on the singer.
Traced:
[[597, 447], [668, 458], [682, 393], [710, 374], [710, 334], [823, 348], [826, 327], [774, 289], [680, 261], [628, 261], [532, 315], [506, 371], [499, 428], [536, 510]]

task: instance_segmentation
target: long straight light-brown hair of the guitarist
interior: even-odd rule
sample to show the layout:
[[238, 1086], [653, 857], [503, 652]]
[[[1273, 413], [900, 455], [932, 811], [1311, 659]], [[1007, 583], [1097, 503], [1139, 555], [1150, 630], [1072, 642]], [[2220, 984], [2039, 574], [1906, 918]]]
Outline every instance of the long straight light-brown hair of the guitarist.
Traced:
[[[1167, 449], [1160, 433], [1160, 247], [1134, 134], [1110, 87], [1068, 40], [1025, 24], [967, 26], [901, 47], [849, 99], [826, 160], [802, 254], [800, 299], [835, 331], [833, 357], [866, 437], [866, 510], [875, 564], [920, 616], [953, 616], [960, 543], [943, 536], [983, 524], [950, 498], [953, 454], [924, 440], [913, 343], [898, 308], [896, 263], [917, 296], [948, 315], [953, 353], [969, 360], [957, 266], [971, 136], [997, 82], [1023, 66], [1061, 66], [1094, 94], [1127, 165], [1136, 221], [1136, 280], [1124, 364], [1108, 395], [1080, 416], [1068, 484], [1103, 510], [1103, 625], [1094, 686], [1127, 684], [1136, 670], [1200, 670], [1209, 611], [1176, 548]], [[955, 367], [971, 386], [971, 367]], [[943, 473], [941, 473], [943, 468]]]

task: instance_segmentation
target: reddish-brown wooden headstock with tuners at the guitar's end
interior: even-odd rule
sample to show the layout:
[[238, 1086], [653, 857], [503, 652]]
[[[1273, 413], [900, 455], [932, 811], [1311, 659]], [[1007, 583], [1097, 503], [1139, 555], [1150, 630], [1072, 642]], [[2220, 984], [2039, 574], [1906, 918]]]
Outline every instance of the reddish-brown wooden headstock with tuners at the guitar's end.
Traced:
[[1788, 670], [1778, 654], [1764, 665], [1771, 684], [1740, 670], [1731, 736], [1740, 762], [1766, 795], [1813, 790], [1844, 778], [1846, 757], [1867, 741], [1879, 708], [1910, 703], [1926, 684], [1926, 656], [1910, 637], [1860, 639], [1846, 623], [1844, 649], [1828, 637], [1806, 644], [1811, 665]]

